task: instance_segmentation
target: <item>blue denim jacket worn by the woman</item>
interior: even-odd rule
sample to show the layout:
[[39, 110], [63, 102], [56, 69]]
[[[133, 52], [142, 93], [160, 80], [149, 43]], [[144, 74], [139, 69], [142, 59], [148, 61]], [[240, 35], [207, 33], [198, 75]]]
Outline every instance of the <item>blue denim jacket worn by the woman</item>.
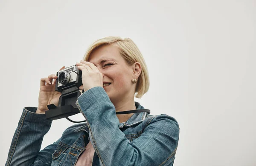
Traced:
[[[144, 109], [135, 102], [137, 109]], [[93, 166], [172, 166], [179, 125], [168, 115], [134, 113], [119, 123], [114, 105], [102, 87], [79, 96], [76, 105], [87, 122], [67, 128], [61, 138], [41, 149], [51, 127], [36, 107], [25, 107], [12, 139], [6, 166], [74, 166], [91, 141]]]

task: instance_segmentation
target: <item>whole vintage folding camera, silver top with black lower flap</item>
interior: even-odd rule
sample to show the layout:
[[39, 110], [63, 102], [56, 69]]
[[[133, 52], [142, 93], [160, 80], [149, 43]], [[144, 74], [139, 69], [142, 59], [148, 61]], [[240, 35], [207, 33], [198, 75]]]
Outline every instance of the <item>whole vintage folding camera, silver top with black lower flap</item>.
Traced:
[[[81, 95], [79, 87], [82, 85], [82, 71], [76, 65], [64, 68], [57, 72], [55, 90], [61, 92], [58, 106], [47, 105], [45, 112], [47, 119], [67, 118], [68, 116], [80, 113], [76, 106], [77, 98]], [[67, 118], [68, 119], [68, 118]]]

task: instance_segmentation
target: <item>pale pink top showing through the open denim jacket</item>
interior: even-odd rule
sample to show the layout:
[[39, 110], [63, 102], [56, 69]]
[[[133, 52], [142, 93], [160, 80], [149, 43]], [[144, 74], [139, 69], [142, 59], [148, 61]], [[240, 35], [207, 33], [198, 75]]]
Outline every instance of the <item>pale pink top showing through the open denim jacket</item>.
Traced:
[[79, 156], [75, 166], [91, 166], [93, 162], [93, 155], [95, 150], [93, 149], [93, 145], [89, 142], [86, 145], [84, 152]]

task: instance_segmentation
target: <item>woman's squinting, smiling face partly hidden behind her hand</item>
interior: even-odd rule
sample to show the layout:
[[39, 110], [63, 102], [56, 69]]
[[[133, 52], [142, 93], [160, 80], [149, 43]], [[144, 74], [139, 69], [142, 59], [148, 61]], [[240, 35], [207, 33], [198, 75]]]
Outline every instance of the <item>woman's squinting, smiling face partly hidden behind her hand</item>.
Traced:
[[[134, 98], [134, 65], [129, 66], [118, 47], [104, 45], [94, 50], [88, 59], [103, 75], [103, 88], [112, 103]], [[137, 78], [136, 78], [137, 79]]]

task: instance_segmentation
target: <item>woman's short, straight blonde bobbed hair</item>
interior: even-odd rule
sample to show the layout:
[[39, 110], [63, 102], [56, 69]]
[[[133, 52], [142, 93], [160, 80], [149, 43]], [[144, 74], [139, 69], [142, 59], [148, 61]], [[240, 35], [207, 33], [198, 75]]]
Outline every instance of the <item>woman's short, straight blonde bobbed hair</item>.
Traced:
[[135, 97], [141, 98], [149, 88], [149, 76], [148, 69], [145, 60], [140, 53], [139, 48], [135, 43], [129, 39], [122, 39], [121, 37], [104, 37], [102, 39], [96, 40], [88, 48], [87, 52], [84, 54], [84, 61], [88, 61], [90, 54], [102, 45], [115, 45], [119, 48], [121, 56], [125, 59], [128, 65], [133, 65], [135, 62], [139, 62], [141, 65], [141, 73], [137, 80], [137, 85], [135, 89]]

